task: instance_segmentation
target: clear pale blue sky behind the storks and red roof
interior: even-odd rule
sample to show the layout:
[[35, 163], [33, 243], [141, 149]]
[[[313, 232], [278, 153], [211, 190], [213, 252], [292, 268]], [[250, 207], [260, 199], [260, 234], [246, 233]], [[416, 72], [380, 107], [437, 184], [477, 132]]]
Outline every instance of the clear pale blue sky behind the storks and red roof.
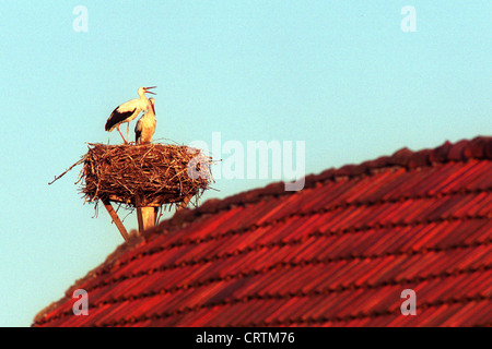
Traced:
[[[304, 141], [318, 173], [492, 134], [491, 13], [490, 0], [2, 1], [0, 326], [31, 325], [122, 242], [83, 205], [81, 167], [47, 183], [85, 142], [120, 143], [104, 124], [139, 86], [159, 86], [154, 139]], [[221, 179], [202, 202], [271, 181]]]

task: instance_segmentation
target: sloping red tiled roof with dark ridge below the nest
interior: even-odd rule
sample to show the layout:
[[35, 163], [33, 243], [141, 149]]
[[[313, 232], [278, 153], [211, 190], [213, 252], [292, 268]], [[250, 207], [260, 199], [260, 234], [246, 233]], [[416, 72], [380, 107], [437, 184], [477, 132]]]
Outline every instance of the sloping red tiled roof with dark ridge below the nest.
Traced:
[[33, 325], [492, 325], [491, 193], [492, 137], [477, 137], [210, 200], [122, 244]]

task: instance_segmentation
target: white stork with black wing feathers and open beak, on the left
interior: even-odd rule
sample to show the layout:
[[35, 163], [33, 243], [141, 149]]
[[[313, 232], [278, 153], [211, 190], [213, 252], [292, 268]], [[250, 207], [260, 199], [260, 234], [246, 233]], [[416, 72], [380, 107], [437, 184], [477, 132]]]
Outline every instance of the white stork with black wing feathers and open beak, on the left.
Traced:
[[112, 132], [115, 128], [118, 130], [119, 134], [121, 135], [121, 139], [125, 143], [128, 143], [127, 140], [125, 140], [124, 135], [121, 134], [121, 131], [119, 130], [119, 125], [121, 123], [127, 122], [127, 136], [128, 141], [130, 140], [130, 121], [138, 117], [140, 111], [149, 109], [150, 101], [147, 99], [145, 94], [153, 94], [153, 92], [149, 91], [151, 88], [155, 88], [157, 86], [151, 86], [151, 87], [139, 87], [138, 94], [140, 98], [133, 98], [130, 99], [122, 105], [118, 106], [113, 110], [109, 119], [106, 121], [106, 131]]

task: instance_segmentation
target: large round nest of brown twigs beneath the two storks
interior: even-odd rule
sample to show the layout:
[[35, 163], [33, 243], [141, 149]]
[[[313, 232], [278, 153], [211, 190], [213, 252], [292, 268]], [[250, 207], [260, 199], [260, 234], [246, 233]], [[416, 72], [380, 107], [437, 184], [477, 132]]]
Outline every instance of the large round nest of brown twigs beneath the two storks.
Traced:
[[89, 143], [79, 181], [85, 202], [134, 207], [179, 204], [201, 196], [213, 181], [212, 159], [185, 145]]

